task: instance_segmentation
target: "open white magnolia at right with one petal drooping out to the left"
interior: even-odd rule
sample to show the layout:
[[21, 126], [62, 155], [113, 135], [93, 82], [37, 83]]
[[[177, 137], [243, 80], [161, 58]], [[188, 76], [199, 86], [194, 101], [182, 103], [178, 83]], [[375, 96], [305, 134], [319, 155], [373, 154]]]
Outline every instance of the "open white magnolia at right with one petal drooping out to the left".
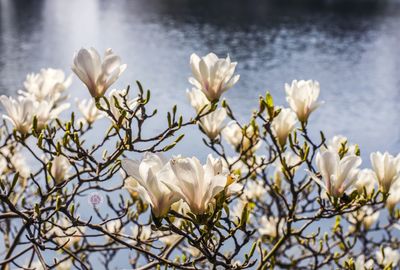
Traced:
[[360, 166], [361, 162], [361, 158], [355, 155], [348, 155], [340, 159], [339, 154], [334, 151], [318, 152], [316, 163], [321, 173], [322, 181], [311, 172], [310, 176], [329, 195], [338, 198], [356, 180], [357, 167]]

